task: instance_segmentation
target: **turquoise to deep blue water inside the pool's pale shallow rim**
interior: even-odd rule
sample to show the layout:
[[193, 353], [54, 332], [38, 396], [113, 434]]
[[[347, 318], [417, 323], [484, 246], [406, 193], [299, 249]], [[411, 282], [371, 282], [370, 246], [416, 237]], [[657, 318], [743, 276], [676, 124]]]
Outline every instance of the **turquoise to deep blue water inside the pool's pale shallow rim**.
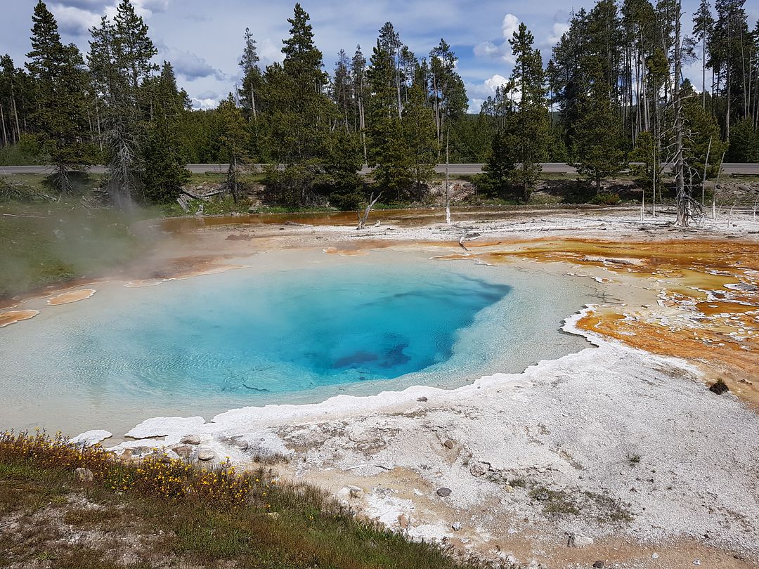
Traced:
[[72, 332], [77, 373], [183, 395], [392, 379], [449, 359], [458, 332], [510, 290], [435, 266], [205, 279]]

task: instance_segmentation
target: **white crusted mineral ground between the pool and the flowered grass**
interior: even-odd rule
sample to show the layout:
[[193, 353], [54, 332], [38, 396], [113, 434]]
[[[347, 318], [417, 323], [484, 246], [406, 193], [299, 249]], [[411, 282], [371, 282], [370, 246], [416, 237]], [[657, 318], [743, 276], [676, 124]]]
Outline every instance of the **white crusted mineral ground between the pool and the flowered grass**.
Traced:
[[[580, 333], [578, 318], [565, 330]], [[452, 391], [155, 418], [127, 434], [166, 447], [197, 435], [240, 464], [290, 455], [293, 476], [360, 487], [345, 499], [389, 526], [480, 550], [540, 528], [549, 545], [568, 533], [691, 536], [759, 558], [759, 417], [682, 360], [585, 335], [597, 347]], [[146, 445], [155, 439], [116, 449]]]

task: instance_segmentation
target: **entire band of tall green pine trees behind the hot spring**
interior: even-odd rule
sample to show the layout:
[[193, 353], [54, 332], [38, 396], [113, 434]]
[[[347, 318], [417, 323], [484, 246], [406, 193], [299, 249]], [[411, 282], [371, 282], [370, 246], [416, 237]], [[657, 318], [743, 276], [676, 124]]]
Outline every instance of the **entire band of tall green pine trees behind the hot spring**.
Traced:
[[[482, 190], [527, 198], [546, 160], [575, 163], [597, 187], [628, 160], [643, 162], [638, 174], [655, 191], [660, 162], [682, 152], [695, 187], [723, 158], [759, 161], [759, 23], [751, 30], [744, 4], [702, 0], [685, 36], [678, 0], [600, 0], [572, 15], [545, 68], [521, 24], [509, 81], [469, 115], [446, 41], [418, 57], [389, 22], [370, 53], [341, 50], [328, 74], [296, 4], [282, 63], [261, 68], [245, 30], [241, 86], [218, 108], [193, 111], [171, 63], [153, 63], [157, 49], [129, 0], [90, 30], [86, 55], [61, 42], [39, 2], [25, 69], [0, 61], [0, 160], [52, 163], [61, 192], [72, 190], [71, 172], [109, 165], [119, 203], [174, 199], [191, 162], [231, 164], [235, 199], [242, 165], [285, 165], [267, 171], [267, 184], [290, 206], [355, 207], [370, 190], [408, 199], [446, 158], [487, 162]], [[693, 61], [698, 90], [676, 73]], [[370, 188], [357, 175], [364, 163], [376, 167]]]

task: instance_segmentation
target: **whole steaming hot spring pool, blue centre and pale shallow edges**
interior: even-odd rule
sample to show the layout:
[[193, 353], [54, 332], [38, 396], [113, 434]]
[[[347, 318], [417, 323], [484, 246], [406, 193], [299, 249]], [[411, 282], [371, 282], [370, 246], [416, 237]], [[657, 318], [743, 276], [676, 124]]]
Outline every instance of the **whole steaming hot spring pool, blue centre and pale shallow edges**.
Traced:
[[219, 275], [97, 285], [0, 329], [0, 428], [119, 433], [159, 415], [455, 387], [587, 347], [559, 327], [590, 285], [428, 256], [262, 253]]

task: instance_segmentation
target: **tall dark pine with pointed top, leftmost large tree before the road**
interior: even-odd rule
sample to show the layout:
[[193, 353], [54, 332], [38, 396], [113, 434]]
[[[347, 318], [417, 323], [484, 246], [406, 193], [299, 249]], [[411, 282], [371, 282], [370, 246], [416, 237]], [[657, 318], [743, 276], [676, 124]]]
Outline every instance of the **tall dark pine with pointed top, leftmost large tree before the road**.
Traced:
[[84, 142], [87, 74], [79, 49], [64, 46], [58, 24], [42, 0], [32, 17], [32, 51], [27, 54], [27, 69], [36, 86], [37, 110], [33, 122], [54, 166], [55, 187], [70, 193], [73, 189], [69, 171], [81, 170], [92, 163], [89, 146]]

